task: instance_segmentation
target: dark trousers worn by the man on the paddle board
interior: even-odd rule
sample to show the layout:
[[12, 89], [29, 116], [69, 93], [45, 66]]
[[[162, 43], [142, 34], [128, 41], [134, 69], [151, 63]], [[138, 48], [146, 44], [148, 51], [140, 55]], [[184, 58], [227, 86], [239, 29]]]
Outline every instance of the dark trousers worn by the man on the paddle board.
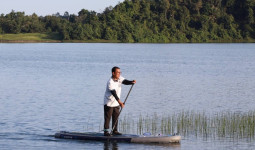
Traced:
[[118, 129], [118, 116], [120, 113], [120, 106], [117, 107], [108, 107], [107, 105], [104, 105], [104, 129], [109, 129], [109, 124], [112, 117], [112, 128], [116, 122], [115, 128], [113, 131], [117, 131]]

